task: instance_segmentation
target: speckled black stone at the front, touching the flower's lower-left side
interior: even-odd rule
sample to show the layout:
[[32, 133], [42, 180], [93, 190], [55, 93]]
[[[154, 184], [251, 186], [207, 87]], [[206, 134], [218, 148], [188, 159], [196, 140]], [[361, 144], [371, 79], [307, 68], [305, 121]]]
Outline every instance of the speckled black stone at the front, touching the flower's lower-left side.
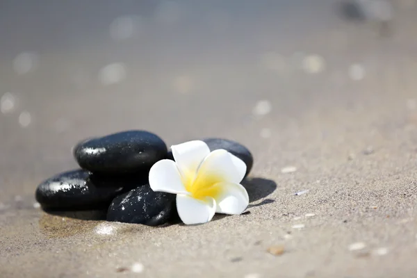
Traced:
[[115, 197], [108, 208], [107, 220], [158, 226], [176, 213], [174, 194], [154, 192], [145, 185]]

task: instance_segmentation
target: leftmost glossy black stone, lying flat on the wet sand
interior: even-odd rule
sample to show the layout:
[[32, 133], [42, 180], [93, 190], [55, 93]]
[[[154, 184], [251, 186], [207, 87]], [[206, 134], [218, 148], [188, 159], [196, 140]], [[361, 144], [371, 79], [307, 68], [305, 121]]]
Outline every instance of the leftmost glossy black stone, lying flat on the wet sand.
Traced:
[[93, 174], [86, 170], [63, 172], [40, 183], [35, 198], [44, 209], [101, 209], [108, 207], [115, 196], [128, 190], [126, 188], [143, 184], [92, 177]]

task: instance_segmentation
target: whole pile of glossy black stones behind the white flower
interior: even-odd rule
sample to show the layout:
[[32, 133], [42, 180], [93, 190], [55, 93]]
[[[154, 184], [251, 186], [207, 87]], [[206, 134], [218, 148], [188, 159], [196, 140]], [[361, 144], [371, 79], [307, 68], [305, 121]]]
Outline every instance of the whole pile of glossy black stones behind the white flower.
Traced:
[[[248, 174], [250, 151], [231, 140], [204, 139], [211, 151], [226, 149], [242, 159]], [[157, 226], [178, 220], [175, 195], [154, 192], [149, 169], [173, 159], [165, 142], [148, 131], [123, 131], [79, 142], [74, 158], [81, 169], [57, 174], [40, 183], [36, 200], [45, 211], [102, 211], [106, 220]]]

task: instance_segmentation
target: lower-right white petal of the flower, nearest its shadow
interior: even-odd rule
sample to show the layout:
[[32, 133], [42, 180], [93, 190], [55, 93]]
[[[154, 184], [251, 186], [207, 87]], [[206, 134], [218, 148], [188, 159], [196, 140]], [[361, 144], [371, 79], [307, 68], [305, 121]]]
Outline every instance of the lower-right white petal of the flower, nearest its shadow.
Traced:
[[249, 196], [246, 189], [239, 183], [217, 183], [213, 190], [218, 192], [215, 196], [216, 213], [240, 214], [249, 204]]

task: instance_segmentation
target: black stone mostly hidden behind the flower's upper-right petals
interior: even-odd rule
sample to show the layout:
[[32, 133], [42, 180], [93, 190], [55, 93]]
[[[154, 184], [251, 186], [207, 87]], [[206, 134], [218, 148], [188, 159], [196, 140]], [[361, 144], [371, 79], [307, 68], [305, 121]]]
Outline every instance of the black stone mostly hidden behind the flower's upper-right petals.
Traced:
[[238, 158], [242, 159], [246, 164], [246, 175], [249, 174], [252, 170], [252, 165], [254, 164], [254, 158], [250, 153], [250, 150], [247, 149], [244, 145], [239, 144], [238, 142], [221, 139], [221, 138], [206, 138], [203, 139], [204, 142], [208, 145], [208, 148], [211, 152], [215, 149], [225, 149], [227, 152], [234, 154]]

